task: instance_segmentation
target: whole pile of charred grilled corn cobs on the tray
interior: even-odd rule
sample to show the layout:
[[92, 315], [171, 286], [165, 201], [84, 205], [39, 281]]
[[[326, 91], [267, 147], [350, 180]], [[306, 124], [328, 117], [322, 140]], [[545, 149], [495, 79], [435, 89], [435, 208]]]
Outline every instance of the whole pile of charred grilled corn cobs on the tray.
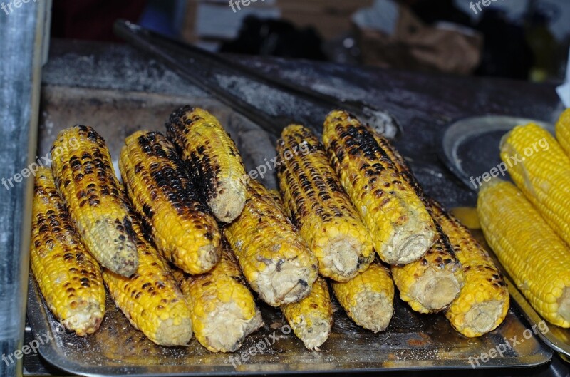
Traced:
[[383, 136], [336, 110], [322, 143], [290, 125], [277, 154], [279, 192], [249, 179], [214, 116], [185, 107], [166, 135], [125, 140], [121, 184], [93, 128], [63, 130], [33, 202], [31, 267], [53, 314], [92, 334], [105, 284], [156, 344], [194, 333], [209, 351], [232, 352], [263, 324], [254, 291], [315, 350], [331, 332], [328, 284], [356, 324], [378, 332], [395, 283], [413, 310], [445, 311], [465, 336], [501, 324], [501, 274]]

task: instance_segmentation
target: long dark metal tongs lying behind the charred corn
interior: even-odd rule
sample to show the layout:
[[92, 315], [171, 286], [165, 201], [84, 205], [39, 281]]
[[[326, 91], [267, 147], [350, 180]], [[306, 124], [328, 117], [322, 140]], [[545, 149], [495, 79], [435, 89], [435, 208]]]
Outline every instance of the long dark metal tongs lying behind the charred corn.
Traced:
[[[260, 70], [232, 61], [221, 54], [211, 53], [162, 36], [129, 21], [115, 21], [114, 30], [118, 37], [152, 54], [182, 78], [212, 94], [229, 108], [241, 113], [273, 135], [279, 136], [281, 130], [291, 123], [306, 125], [321, 135], [323, 120], [326, 114], [334, 109], [347, 110], [388, 138], [395, 138], [400, 134], [400, 125], [393, 115], [365, 103], [336, 98], [305, 86], [297, 86], [290, 81], [269, 76]], [[256, 103], [251, 99], [248, 101], [247, 98], [237, 95], [235, 89], [239, 88], [236, 88], [235, 82], [234, 86], [224, 85], [224, 82], [231, 82], [235, 78], [251, 81], [255, 86], [265, 86], [284, 95], [269, 95], [264, 98], [264, 103]], [[295, 105], [275, 103], [284, 98], [289, 102], [299, 101], [303, 108], [310, 110], [299, 110]], [[278, 108], [279, 112], [270, 113], [264, 110], [269, 107], [266, 106], [266, 101], [274, 101], [274, 108]]]

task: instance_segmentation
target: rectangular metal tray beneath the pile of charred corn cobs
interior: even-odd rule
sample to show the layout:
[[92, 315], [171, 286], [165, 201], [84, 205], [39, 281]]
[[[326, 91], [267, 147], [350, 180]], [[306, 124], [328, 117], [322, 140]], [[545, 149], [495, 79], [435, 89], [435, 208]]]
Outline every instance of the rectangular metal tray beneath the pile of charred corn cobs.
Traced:
[[[95, 100], [97, 98], [105, 100]], [[259, 148], [257, 141], [248, 147], [245, 143], [253, 143], [252, 134], [257, 131], [238, 124], [239, 117], [229, 116], [227, 108], [204, 98], [44, 88], [43, 101], [43, 119], [39, 130], [40, 155], [49, 149], [59, 129], [88, 117], [89, 124], [108, 140], [111, 155], [116, 156], [126, 134], [138, 128], [160, 129], [175, 103], [202, 103], [214, 114], [224, 117], [224, 124], [229, 125], [238, 148], [244, 151], [246, 165], [257, 166], [256, 163], [259, 165], [264, 157], [268, 157], [266, 153], [275, 153], [271, 145], [263, 153], [254, 151], [254, 148]], [[390, 326], [386, 331], [373, 334], [354, 325], [335, 304], [333, 332], [321, 351], [311, 352], [293, 334], [283, 334], [281, 328], [284, 320], [278, 310], [264, 304], [259, 306], [266, 324], [263, 329], [249, 336], [235, 354], [210, 353], [195, 339], [187, 348], [156, 346], [130, 326], [110, 299], [103, 324], [95, 334], [84, 338], [65, 332], [59, 334], [58, 322], [47, 309], [33, 277], [30, 277], [28, 288], [28, 319], [34, 336], [36, 339], [53, 337], [53, 341], [40, 346], [41, 356], [64, 371], [86, 376], [472, 368], [470, 357], [480, 356], [497, 346], [503, 347], [513, 336], [521, 339], [529, 326], [519, 309], [513, 306], [499, 329], [478, 339], [467, 339], [455, 332], [444, 316], [417, 314], [400, 299], [395, 299], [395, 315]], [[232, 358], [235, 360], [236, 356], [241, 356], [265, 339], [270, 341], [271, 346], [267, 346], [263, 353], [250, 356], [241, 364], [234, 361], [235, 367], [232, 365]], [[502, 357], [480, 363], [480, 368], [537, 366], [549, 361], [551, 356], [551, 349], [533, 335], [512, 349], [507, 349]], [[477, 366], [474, 359], [472, 363]]]

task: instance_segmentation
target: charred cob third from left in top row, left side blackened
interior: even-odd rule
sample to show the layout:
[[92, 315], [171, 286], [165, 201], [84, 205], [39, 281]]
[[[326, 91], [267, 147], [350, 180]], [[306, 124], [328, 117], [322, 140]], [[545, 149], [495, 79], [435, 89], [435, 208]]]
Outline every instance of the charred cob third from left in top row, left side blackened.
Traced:
[[190, 106], [170, 115], [166, 132], [204, 188], [214, 216], [232, 222], [244, 208], [247, 186], [234, 140], [214, 115]]

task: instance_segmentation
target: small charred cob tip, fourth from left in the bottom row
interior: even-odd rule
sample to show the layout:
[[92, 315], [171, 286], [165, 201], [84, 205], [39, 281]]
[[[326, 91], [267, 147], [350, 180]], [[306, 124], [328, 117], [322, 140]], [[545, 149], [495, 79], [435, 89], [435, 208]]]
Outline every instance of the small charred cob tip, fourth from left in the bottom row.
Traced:
[[289, 326], [306, 348], [318, 350], [333, 326], [333, 306], [326, 280], [318, 277], [311, 294], [301, 301], [281, 306]]

